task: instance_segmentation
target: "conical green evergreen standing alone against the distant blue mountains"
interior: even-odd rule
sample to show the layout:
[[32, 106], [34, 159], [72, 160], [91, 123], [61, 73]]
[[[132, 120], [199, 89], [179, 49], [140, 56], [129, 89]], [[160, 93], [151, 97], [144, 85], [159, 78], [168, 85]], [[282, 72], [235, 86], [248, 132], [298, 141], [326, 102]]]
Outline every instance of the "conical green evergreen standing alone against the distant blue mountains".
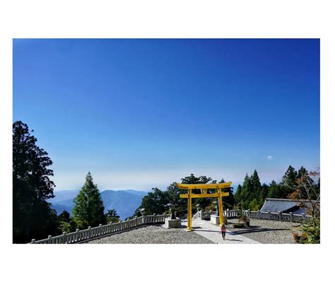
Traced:
[[74, 204], [74, 221], [79, 229], [106, 223], [105, 207], [90, 172], [86, 175], [86, 182], [74, 199]]

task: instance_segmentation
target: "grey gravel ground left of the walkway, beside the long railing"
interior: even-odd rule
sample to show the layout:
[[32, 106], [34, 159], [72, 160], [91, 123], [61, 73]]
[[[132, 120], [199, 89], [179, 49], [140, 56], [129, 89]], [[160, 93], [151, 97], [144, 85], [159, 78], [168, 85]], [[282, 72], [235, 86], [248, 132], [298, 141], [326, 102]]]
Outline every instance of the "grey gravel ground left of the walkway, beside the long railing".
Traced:
[[92, 240], [88, 244], [214, 244], [211, 240], [184, 228], [166, 229], [162, 225], [147, 225], [124, 233]]

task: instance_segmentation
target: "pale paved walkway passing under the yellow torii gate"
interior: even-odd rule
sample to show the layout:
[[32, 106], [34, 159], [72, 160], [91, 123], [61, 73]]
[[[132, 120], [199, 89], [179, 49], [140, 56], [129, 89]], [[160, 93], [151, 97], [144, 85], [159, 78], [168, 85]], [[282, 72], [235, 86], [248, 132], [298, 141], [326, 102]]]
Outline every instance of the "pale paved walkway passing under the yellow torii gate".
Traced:
[[[187, 226], [187, 221], [182, 221], [182, 225]], [[260, 242], [228, 230], [227, 233], [225, 233], [225, 240], [223, 240], [220, 226], [214, 225], [210, 221], [195, 219], [192, 221], [192, 228], [194, 233], [197, 233], [216, 244], [261, 244]]]

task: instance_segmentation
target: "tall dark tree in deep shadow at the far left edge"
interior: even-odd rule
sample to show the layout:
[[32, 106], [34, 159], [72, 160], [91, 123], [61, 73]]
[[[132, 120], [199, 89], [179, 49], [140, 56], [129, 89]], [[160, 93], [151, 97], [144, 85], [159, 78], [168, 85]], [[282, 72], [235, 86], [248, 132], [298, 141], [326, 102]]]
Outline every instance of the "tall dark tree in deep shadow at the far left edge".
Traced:
[[28, 125], [13, 123], [13, 242], [29, 242], [57, 230], [57, 213], [45, 201], [54, 197], [48, 169], [52, 160], [36, 145]]

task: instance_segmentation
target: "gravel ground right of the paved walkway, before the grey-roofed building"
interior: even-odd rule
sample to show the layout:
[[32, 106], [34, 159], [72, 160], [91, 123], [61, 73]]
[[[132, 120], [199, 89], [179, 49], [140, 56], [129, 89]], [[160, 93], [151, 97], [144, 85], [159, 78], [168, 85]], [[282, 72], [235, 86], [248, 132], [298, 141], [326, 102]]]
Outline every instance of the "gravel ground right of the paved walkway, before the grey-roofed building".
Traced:
[[233, 228], [237, 219], [229, 219], [227, 229], [263, 244], [295, 244], [293, 233], [300, 223], [266, 221], [252, 218], [250, 228]]

